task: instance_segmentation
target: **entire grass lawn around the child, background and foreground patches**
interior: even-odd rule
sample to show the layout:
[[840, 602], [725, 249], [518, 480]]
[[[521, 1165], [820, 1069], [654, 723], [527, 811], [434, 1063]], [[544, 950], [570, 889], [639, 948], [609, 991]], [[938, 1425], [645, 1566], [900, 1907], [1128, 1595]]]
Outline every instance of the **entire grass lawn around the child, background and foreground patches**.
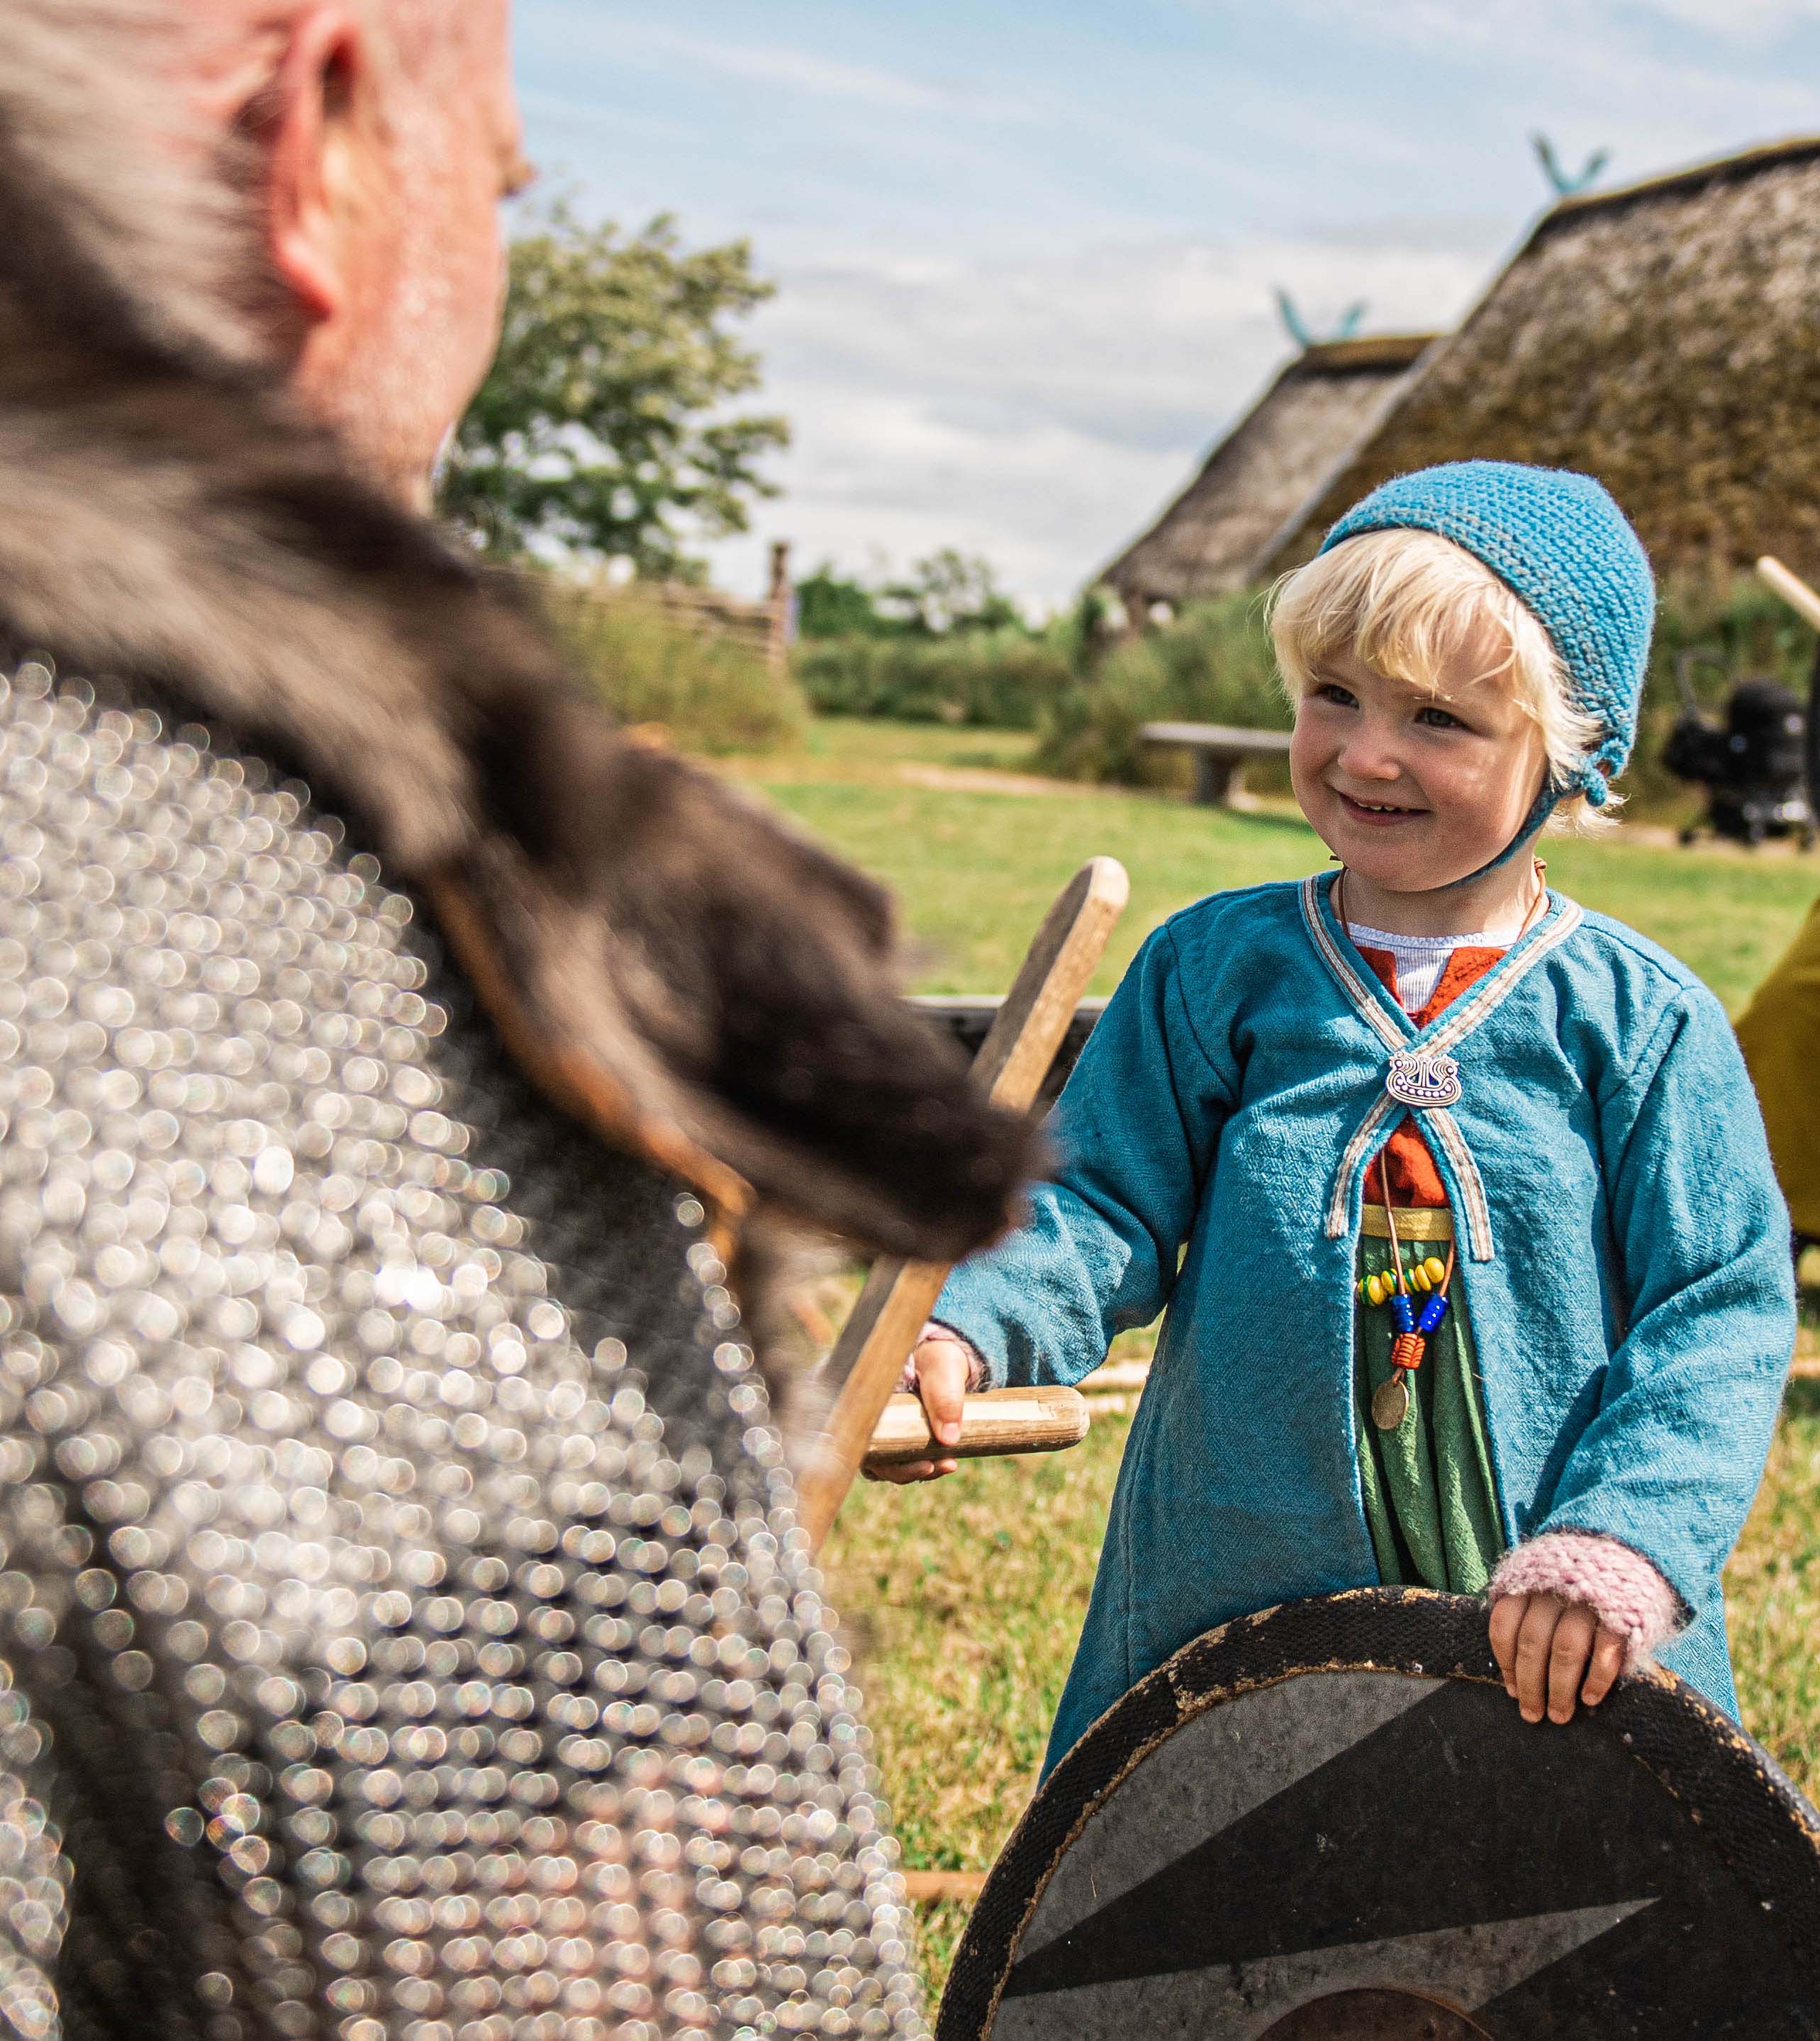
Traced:
[[[1281, 808], [1020, 778], [1028, 739], [820, 723], [804, 751], [737, 761], [816, 835], [886, 880], [918, 945], [918, 990], [1000, 992], [1061, 882], [1120, 857], [1132, 904], [1096, 990], [1112, 990], [1165, 914], [1218, 886], [1320, 869]], [[1820, 859], [1683, 851], [1636, 831], [1553, 843], [1549, 876], [1683, 957], [1736, 1010], [1820, 890]], [[1043, 1459], [963, 1465], [930, 1488], [861, 1484], [828, 1543], [837, 1606], [863, 1659], [867, 1714], [906, 1865], [985, 1870], [1028, 1800], [1088, 1606], [1128, 1418]], [[1798, 1382], [1730, 1567], [1747, 1727], [1820, 1794], [1820, 1382]], [[965, 1923], [922, 1912], [930, 1996]]]

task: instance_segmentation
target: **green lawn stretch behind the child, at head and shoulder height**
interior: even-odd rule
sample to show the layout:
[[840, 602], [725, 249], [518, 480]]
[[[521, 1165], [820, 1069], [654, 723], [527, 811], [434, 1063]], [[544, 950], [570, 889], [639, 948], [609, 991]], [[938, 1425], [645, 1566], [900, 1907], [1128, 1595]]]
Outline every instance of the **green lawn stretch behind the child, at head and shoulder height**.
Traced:
[[[741, 761], [739, 774], [892, 886], [920, 992], [1002, 992], [1049, 902], [1094, 853], [1130, 872], [1096, 992], [1110, 992], [1145, 935], [1190, 900], [1326, 865], [1285, 804], [1230, 814], [1063, 782], [1041, 794], [967, 784], [981, 767], [1022, 771], [1028, 749], [1008, 731], [828, 718], [804, 749]], [[1820, 888], [1820, 859], [1638, 837], [1547, 839], [1549, 878], [1671, 949], [1736, 1010]]]

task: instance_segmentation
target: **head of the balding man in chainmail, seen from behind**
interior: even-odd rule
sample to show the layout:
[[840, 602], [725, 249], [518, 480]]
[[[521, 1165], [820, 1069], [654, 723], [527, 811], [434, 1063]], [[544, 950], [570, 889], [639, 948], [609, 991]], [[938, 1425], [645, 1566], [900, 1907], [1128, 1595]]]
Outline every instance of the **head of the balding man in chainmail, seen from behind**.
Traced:
[[231, 310], [237, 353], [420, 498], [498, 341], [498, 204], [524, 180], [510, 0], [45, 12], [67, 106], [53, 169], [90, 202], [104, 188], [110, 267], [214, 347]]

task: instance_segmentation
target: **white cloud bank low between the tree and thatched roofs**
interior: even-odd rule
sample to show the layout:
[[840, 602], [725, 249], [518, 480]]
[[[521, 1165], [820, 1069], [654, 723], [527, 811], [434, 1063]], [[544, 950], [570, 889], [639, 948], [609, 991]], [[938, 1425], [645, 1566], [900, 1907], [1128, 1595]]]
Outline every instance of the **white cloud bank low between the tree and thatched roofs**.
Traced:
[[1353, 298], [1377, 331], [1451, 322], [1500, 235], [1465, 225], [1308, 241], [1118, 245], [1024, 263], [853, 257], [786, 271], [755, 341], [796, 427], [788, 494], [720, 549], [759, 580], [763, 541], [865, 569], [939, 545], [1065, 602], [1187, 480], [1287, 341], [1271, 288], [1316, 320]]

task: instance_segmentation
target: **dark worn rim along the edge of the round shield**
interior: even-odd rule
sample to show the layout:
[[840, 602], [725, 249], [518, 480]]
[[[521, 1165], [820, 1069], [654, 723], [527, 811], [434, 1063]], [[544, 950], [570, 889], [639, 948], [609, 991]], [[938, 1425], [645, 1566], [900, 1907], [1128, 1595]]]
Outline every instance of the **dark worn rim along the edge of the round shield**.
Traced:
[[[1353, 1588], [1196, 1637], [1116, 1700], [1043, 1782], [988, 1874], [937, 2010], [937, 2041], [985, 2041], [1012, 1953], [1049, 1878], [1108, 1794], [1167, 1737], [1241, 1694], [1318, 1672], [1504, 1686], [1485, 1602], [1432, 1588]], [[1820, 1980], [1820, 1810], [1722, 1708], [1661, 1665], [1618, 1680], [1579, 1719], [1616, 1737], [1675, 1798], [1700, 1808], [1702, 1837], [1726, 1870], [1775, 1910], [1796, 1974]], [[1732, 1837], [1779, 1841], [1747, 1870]], [[1804, 1847], [1806, 1845], [1806, 1847]], [[1765, 1876], [1767, 1870], [1767, 1876]]]

